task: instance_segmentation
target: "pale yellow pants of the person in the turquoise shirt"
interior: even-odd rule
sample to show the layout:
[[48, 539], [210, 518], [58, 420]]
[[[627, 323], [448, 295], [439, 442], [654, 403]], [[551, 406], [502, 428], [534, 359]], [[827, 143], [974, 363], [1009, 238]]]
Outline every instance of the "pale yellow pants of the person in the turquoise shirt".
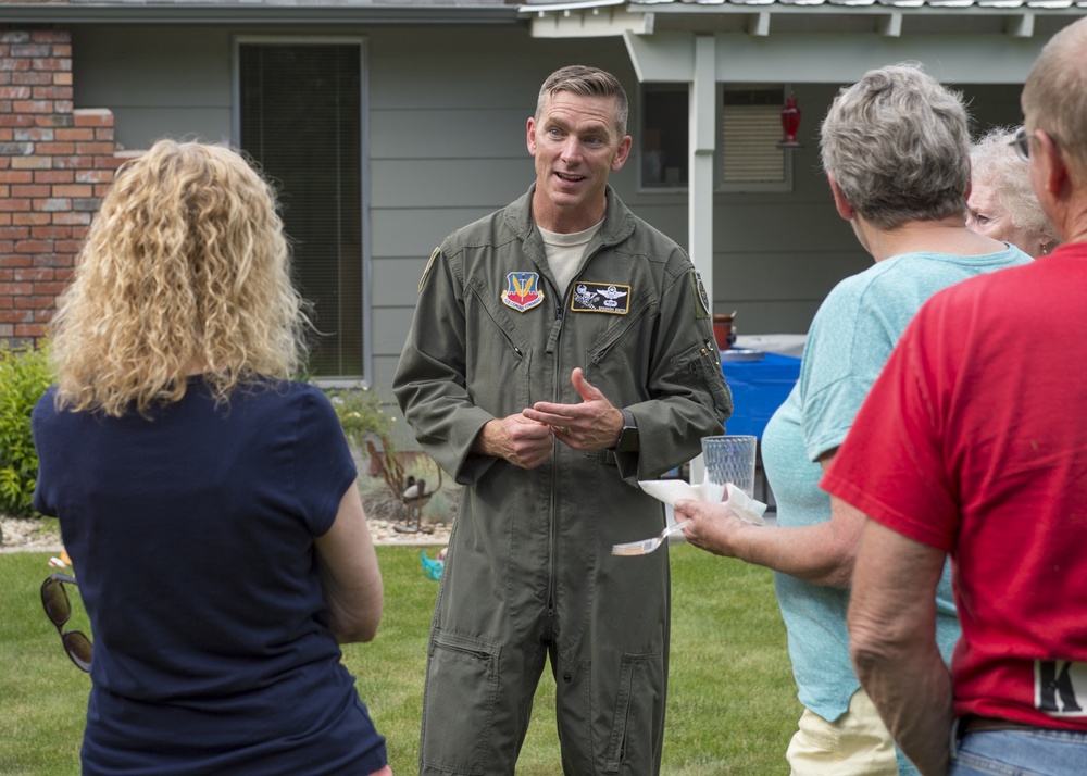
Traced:
[[837, 722], [804, 709], [785, 758], [791, 776], [898, 776], [895, 742], [864, 690]]

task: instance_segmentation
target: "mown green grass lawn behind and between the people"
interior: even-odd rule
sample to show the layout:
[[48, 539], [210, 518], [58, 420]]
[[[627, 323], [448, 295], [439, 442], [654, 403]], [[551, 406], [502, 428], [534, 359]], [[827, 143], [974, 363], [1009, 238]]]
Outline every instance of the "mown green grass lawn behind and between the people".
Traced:
[[[438, 584], [422, 572], [418, 548], [379, 547], [385, 616], [377, 639], [345, 647], [345, 662], [398, 776], [417, 772], [418, 721], [427, 630]], [[429, 549], [427, 554], [434, 554]], [[48, 553], [0, 555], [0, 774], [78, 774], [90, 680], [64, 655], [41, 611]], [[785, 774], [785, 748], [800, 704], [771, 573], [695, 550], [672, 548], [673, 623], [667, 776]], [[78, 602], [74, 602], [80, 609]], [[73, 622], [78, 629], [83, 623]], [[545, 671], [517, 767], [555, 776], [554, 689]]]

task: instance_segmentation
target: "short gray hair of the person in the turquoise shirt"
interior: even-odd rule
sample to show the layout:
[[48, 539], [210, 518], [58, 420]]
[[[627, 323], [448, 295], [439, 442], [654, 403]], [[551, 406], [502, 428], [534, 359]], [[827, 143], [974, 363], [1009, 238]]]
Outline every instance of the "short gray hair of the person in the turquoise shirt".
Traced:
[[823, 168], [873, 226], [965, 212], [970, 129], [962, 97], [916, 63], [869, 71], [823, 120]]

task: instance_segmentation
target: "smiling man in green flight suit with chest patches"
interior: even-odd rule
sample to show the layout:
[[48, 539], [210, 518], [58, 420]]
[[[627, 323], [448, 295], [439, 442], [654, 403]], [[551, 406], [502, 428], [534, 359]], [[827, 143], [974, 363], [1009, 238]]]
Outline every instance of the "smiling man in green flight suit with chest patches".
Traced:
[[723, 433], [732, 398], [695, 267], [608, 185], [630, 151], [609, 73], [553, 73], [536, 183], [446, 238], [395, 392], [462, 492], [430, 630], [421, 774], [513, 774], [545, 662], [563, 771], [660, 771], [666, 551], [644, 493]]

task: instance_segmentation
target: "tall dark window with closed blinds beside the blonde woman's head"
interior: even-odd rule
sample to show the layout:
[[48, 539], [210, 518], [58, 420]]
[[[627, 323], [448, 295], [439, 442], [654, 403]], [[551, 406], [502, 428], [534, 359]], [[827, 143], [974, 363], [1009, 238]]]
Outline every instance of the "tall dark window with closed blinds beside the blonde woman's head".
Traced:
[[239, 142], [278, 189], [318, 378], [363, 374], [361, 64], [358, 43], [238, 48]]

